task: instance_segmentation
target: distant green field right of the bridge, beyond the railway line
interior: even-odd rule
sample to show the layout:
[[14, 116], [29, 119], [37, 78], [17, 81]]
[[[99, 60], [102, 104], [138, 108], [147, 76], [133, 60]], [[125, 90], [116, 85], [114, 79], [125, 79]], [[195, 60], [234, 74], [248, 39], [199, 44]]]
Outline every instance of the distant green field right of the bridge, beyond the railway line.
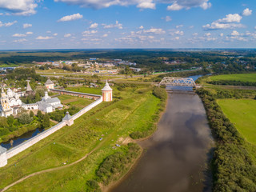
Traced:
[[241, 82], [256, 82], [256, 74], [221, 74], [217, 76], [211, 76], [210, 80], [233, 80]]

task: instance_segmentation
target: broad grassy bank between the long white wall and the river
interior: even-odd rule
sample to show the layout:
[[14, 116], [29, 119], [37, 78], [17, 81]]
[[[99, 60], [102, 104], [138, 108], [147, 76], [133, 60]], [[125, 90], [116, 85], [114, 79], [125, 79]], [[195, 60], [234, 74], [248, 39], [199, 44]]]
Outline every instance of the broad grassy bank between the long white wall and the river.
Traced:
[[[118, 95], [114, 102], [101, 103], [78, 118], [73, 126], [63, 127], [9, 159], [8, 165], [0, 168], [0, 188], [28, 174], [62, 167], [28, 178], [8, 191], [90, 191], [93, 185], [90, 181], [95, 180], [104, 159], [117, 152], [124, 153], [129, 135], [134, 131], [151, 129], [161, 108], [162, 101], [152, 94], [150, 86], [114, 87], [114, 94]], [[68, 166], [86, 154], [90, 155]], [[122, 177], [122, 174], [110, 174], [114, 180]]]

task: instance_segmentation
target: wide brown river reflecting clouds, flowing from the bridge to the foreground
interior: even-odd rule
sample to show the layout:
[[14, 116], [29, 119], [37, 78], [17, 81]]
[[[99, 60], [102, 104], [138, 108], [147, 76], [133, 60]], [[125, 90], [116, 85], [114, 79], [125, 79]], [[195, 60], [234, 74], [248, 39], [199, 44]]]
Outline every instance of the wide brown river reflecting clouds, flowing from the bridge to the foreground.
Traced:
[[168, 91], [166, 111], [136, 166], [111, 192], [211, 191], [208, 165], [214, 145], [197, 94]]

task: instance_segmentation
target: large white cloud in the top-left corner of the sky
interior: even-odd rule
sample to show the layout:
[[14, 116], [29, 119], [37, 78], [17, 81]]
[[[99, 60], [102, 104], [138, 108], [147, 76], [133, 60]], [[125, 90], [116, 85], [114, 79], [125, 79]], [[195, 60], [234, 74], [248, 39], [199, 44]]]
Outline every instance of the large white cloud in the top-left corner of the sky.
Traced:
[[15, 15], [35, 14], [38, 6], [36, 0], [1, 0], [0, 9], [8, 10]]

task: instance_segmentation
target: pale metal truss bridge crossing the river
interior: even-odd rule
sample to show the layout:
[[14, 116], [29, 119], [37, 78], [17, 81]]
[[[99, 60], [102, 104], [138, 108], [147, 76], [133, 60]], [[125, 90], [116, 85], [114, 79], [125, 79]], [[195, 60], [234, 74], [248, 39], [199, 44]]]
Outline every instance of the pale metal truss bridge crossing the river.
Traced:
[[159, 83], [159, 86], [192, 86], [196, 87], [196, 84], [192, 78], [163, 78]]

